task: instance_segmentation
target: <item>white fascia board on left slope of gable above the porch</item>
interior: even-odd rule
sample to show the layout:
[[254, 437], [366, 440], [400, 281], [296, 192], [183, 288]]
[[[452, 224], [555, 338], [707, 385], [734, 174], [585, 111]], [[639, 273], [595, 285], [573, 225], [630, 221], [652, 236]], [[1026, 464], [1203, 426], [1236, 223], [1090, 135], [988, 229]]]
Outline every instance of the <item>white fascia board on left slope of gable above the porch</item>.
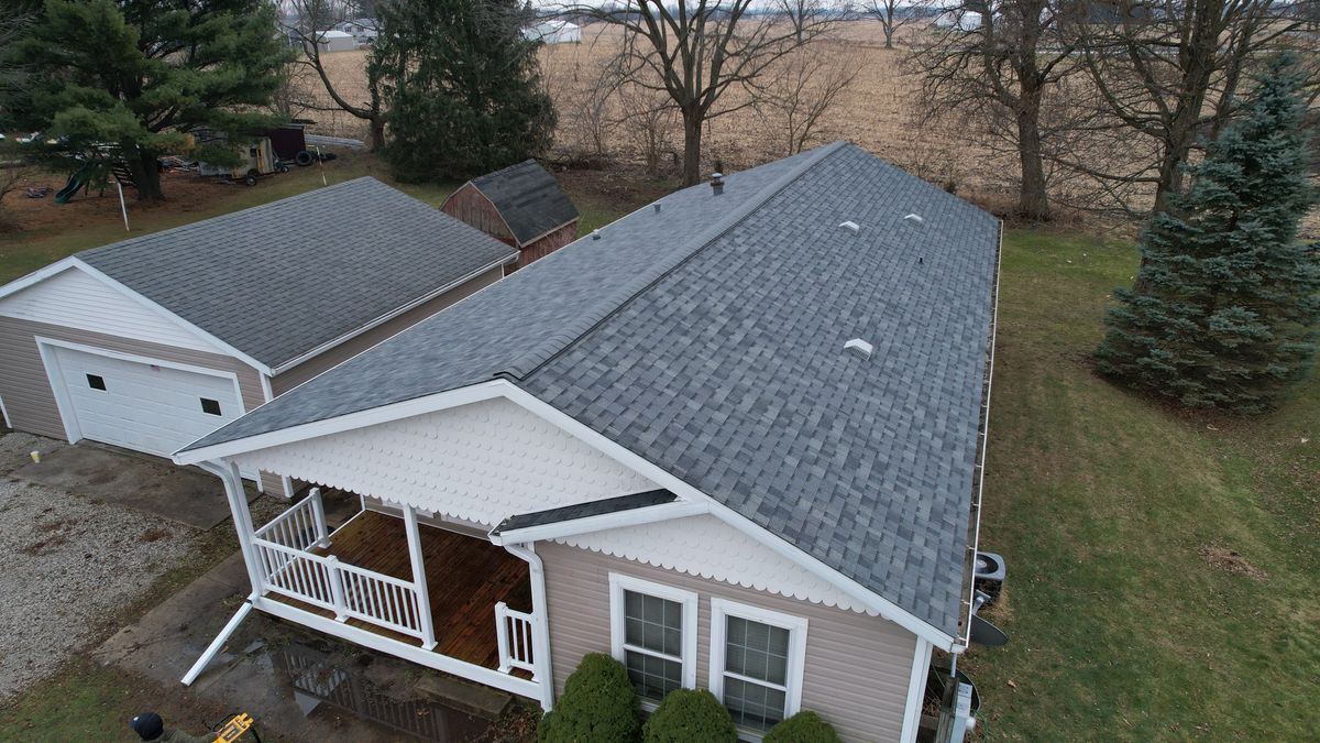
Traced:
[[256, 450], [292, 444], [294, 442], [314, 439], [317, 436], [330, 436], [345, 431], [352, 431], [355, 428], [375, 426], [378, 423], [389, 423], [392, 420], [424, 415], [437, 410], [494, 399], [503, 397], [502, 393], [502, 381], [482, 382], [479, 385], [458, 387], [433, 395], [374, 407], [371, 410], [350, 412], [347, 415], [326, 418], [325, 420], [314, 420], [301, 426], [281, 428], [279, 431], [271, 431], [269, 434], [257, 434], [256, 436], [234, 439], [232, 442], [223, 442], [209, 447], [177, 451], [174, 452], [173, 459], [176, 464], [194, 464], [207, 459], [231, 457]]

